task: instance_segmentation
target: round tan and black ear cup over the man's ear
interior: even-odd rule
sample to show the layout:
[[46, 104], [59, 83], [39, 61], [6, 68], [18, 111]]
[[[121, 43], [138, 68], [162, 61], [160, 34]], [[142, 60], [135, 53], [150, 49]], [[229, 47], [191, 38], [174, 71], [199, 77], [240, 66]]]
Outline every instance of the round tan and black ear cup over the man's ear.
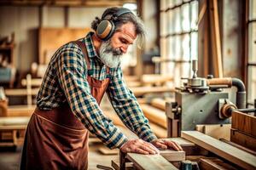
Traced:
[[102, 40], [108, 40], [113, 35], [114, 25], [111, 20], [102, 20], [99, 26], [97, 26], [96, 34]]

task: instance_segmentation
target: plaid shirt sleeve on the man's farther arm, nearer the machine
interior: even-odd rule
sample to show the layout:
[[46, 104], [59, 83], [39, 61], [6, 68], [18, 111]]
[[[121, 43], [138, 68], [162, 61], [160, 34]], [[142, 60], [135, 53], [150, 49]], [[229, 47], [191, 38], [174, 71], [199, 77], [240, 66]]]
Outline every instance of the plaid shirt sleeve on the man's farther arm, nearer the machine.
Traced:
[[120, 67], [114, 72], [107, 93], [114, 110], [126, 127], [137, 133], [139, 138], [148, 142], [157, 139], [150, 129], [148, 119], [143, 115], [137, 99], [126, 87]]

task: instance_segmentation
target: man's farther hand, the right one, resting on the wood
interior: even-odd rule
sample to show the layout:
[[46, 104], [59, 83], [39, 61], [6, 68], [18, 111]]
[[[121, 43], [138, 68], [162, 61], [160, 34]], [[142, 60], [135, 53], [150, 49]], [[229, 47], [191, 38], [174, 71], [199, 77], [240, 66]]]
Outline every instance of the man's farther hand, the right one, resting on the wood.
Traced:
[[151, 142], [155, 147], [160, 148], [160, 150], [166, 150], [167, 148], [172, 148], [174, 150], [183, 150], [182, 147], [176, 142], [165, 140], [165, 139], [155, 139]]

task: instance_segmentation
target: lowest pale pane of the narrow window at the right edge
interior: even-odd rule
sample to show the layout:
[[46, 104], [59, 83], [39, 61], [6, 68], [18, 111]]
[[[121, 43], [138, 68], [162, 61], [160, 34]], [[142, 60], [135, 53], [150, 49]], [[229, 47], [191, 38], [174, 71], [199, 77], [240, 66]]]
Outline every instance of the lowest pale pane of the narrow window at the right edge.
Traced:
[[248, 68], [248, 101], [253, 101], [253, 99], [256, 99], [256, 66], [249, 66]]

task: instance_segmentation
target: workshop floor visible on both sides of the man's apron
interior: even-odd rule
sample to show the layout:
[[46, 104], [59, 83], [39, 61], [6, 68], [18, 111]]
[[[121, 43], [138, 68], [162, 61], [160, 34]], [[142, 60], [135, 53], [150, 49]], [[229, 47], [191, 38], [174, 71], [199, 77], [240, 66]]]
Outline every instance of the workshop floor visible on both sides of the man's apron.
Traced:
[[[111, 167], [111, 160], [119, 159], [118, 155], [106, 156], [102, 155], [98, 148], [103, 144], [90, 144], [89, 152], [89, 168], [88, 169], [97, 169], [96, 165], [101, 164], [104, 166]], [[0, 170], [17, 170], [20, 167], [20, 156], [21, 156], [21, 147], [14, 149], [0, 148]]]

